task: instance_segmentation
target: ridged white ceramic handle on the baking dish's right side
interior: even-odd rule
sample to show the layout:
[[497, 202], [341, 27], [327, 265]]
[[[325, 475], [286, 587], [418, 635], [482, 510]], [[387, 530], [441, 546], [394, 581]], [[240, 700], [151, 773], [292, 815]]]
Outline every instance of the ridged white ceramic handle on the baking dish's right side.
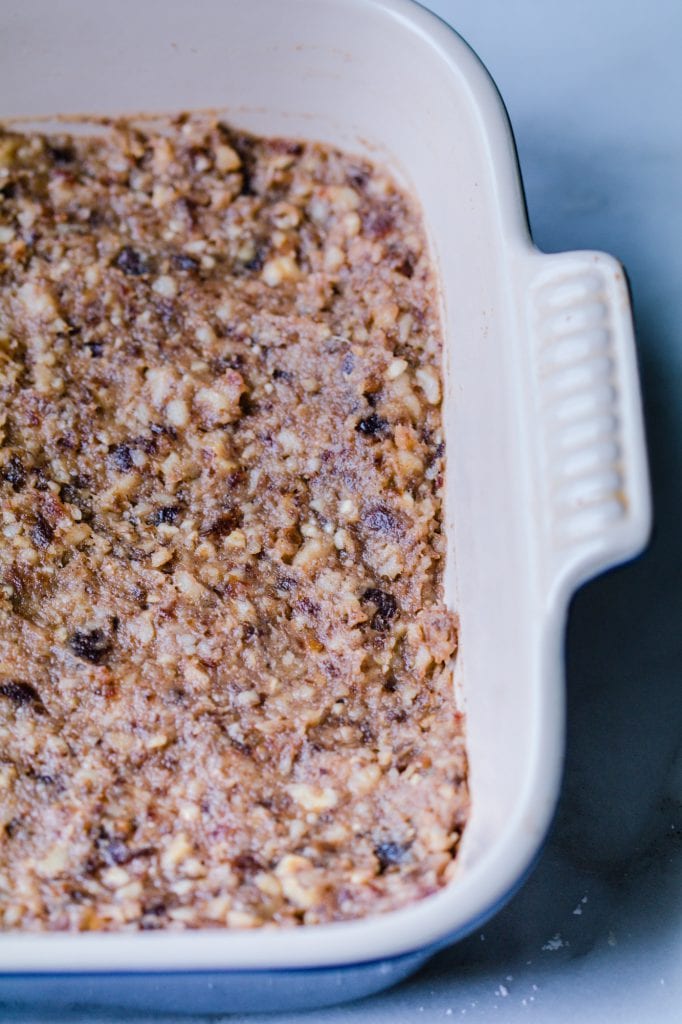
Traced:
[[535, 253], [525, 295], [543, 571], [550, 594], [567, 596], [649, 536], [630, 293], [613, 257], [571, 252]]

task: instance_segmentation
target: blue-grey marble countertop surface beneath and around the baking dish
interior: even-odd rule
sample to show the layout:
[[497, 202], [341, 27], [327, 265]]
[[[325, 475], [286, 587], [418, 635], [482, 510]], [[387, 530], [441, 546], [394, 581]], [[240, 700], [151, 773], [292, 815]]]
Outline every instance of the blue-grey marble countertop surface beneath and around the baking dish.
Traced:
[[682, 1019], [682, 4], [428, 5], [498, 83], [540, 247], [604, 249], [630, 272], [655, 534], [643, 558], [574, 601], [563, 796], [521, 892], [392, 991], [244, 1021], [673, 1024]]

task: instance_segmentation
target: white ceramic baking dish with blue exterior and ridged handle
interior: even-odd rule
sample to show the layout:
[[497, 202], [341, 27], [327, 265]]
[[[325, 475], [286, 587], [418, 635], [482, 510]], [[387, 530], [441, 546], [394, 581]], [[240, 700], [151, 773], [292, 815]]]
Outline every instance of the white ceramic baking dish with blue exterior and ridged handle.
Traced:
[[311, 1006], [389, 984], [476, 927], [528, 870], [557, 799], [570, 595], [649, 529], [623, 269], [534, 248], [503, 104], [454, 32], [410, 0], [4, 0], [0, 117], [201, 108], [366, 153], [422, 204], [447, 339], [447, 599], [471, 820], [452, 884], [383, 916], [0, 935], [0, 1005]]

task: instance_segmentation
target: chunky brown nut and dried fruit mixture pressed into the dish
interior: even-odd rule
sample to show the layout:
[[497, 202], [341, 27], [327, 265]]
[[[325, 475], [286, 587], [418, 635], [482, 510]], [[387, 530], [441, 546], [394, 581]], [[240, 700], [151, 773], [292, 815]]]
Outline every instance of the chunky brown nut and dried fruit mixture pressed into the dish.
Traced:
[[0, 131], [0, 927], [447, 880], [440, 362], [373, 165], [210, 116]]

